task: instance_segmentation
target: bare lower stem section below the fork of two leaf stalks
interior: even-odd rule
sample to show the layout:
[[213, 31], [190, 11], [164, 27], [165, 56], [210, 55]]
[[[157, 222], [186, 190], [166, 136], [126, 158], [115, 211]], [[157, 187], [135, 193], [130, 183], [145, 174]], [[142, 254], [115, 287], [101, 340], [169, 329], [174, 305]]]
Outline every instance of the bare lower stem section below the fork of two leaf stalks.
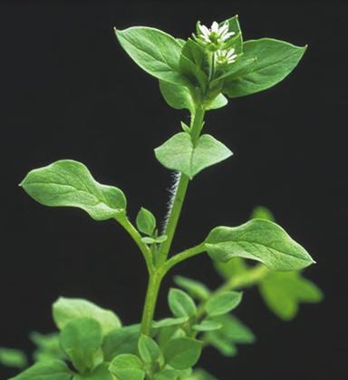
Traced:
[[150, 274], [148, 289], [146, 291], [145, 305], [142, 311], [140, 332], [146, 336], [150, 335], [157, 298], [160, 291], [160, 283], [163, 275], [159, 272]]

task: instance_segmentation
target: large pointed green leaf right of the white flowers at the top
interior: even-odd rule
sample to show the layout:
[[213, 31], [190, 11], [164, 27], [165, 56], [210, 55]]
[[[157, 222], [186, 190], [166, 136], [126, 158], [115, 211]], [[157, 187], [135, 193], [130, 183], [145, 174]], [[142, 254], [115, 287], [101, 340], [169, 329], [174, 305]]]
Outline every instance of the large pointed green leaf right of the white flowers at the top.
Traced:
[[237, 98], [274, 86], [295, 69], [305, 49], [306, 46], [271, 38], [247, 41], [243, 44], [240, 60], [219, 78], [225, 78], [222, 92], [230, 98]]

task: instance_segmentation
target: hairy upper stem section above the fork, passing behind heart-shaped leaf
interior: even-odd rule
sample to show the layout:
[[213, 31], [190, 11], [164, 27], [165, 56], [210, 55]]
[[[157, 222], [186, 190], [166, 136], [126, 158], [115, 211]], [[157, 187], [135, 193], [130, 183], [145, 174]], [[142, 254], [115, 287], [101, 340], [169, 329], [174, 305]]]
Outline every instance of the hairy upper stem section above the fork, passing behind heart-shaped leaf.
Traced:
[[[198, 141], [199, 134], [202, 130], [204, 112], [205, 110], [203, 106], [198, 106], [196, 108], [195, 114], [192, 116], [191, 137], [194, 144]], [[171, 243], [174, 238], [175, 230], [177, 229], [179, 216], [181, 213], [182, 205], [185, 200], [188, 186], [189, 186], [189, 177], [181, 173], [178, 188], [174, 196], [173, 205], [169, 213], [167, 228], [164, 231], [164, 234], [167, 235], [167, 240], [160, 246], [160, 252], [159, 252], [160, 264], [165, 263], [168, 257], [169, 249], [171, 247]]]

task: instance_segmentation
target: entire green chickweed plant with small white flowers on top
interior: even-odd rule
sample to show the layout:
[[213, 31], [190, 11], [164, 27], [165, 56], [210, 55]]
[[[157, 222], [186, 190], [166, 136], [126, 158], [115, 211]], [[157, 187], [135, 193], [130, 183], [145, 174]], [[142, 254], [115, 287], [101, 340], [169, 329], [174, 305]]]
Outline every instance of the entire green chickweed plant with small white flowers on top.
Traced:
[[[34, 365], [27, 367], [21, 351], [0, 349], [3, 364], [22, 370], [12, 380], [216, 379], [196, 367], [204, 347], [235, 356], [237, 345], [255, 341], [233, 314], [242, 301], [241, 289], [258, 287], [267, 307], [285, 320], [295, 317], [300, 303], [322, 298], [301, 271], [313, 258], [263, 207], [240, 226], [216, 227], [192, 247], [171, 250], [189, 182], [232, 156], [222, 142], [202, 133], [206, 112], [281, 82], [306, 47], [272, 38], [243, 41], [237, 16], [211, 27], [198, 22], [187, 40], [144, 26], [115, 29], [115, 34], [131, 59], [159, 81], [169, 106], [190, 113], [189, 125], [181, 122], [180, 132], [154, 150], [156, 159], [176, 173], [164, 227], [159, 229], [145, 208], [131, 220], [123, 191], [97, 182], [78, 161], [56, 161], [30, 171], [21, 186], [45, 206], [83, 209], [92, 219], [112, 219], [128, 232], [149, 277], [140, 323], [125, 326], [111, 310], [60, 297], [53, 304], [58, 332], [30, 336], [37, 346]], [[174, 278], [177, 287], [168, 295], [171, 314], [156, 319], [162, 279], [182, 261], [206, 252], [221, 275], [221, 286], [209, 289], [191, 278]]]

